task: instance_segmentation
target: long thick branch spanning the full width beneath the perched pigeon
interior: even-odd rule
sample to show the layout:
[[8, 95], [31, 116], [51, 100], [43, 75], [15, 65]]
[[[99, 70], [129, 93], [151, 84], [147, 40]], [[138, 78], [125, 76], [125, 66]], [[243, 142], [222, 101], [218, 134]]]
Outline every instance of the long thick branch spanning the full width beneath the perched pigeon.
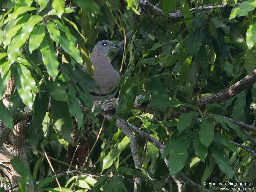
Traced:
[[[144, 1], [144, 0], [140, 0], [140, 1]], [[197, 104], [200, 107], [200, 109], [204, 109], [206, 106], [206, 103], [213, 103], [215, 101], [222, 103], [225, 102], [227, 100], [229, 100], [230, 98], [234, 97], [235, 95], [237, 95], [238, 93], [244, 91], [245, 89], [247, 89], [248, 87], [250, 87], [252, 84], [254, 84], [256, 82], [256, 69], [250, 74], [245, 76], [243, 79], [241, 79], [240, 81], [236, 82], [235, 84], [231, 85], [229, 88], [216, 93], [212, 96], [209, 97], [205, 97], [203, 99], [199, 99], [197, 100]], [[138, 99], [142, 98], [142, 95], [139, 95], [136, 97], [136, 100], [133, 104], [134, 109], [138, 109], [141, 111], [144, 111], [146, 113], [150, 113], [150, 114], [154, 114], [155, 110], [154, 108], [147, 108], [147, 105], [149, 102], [152, 102], [153, 100], [151, 98], [148, 99], [148, 101], [145, 101], [142, 104], [138, 103]], [[92, 110], [94, 110], [96, 107], [98, 107], [100, 105], [101, 101], [93, 101], [93, 108]], [[106, 100], [102, 105], [101, 105], [101, 111], [108, 111], [108, 110], [116, 110], [118, 104], [118, 98], [115, 99], [111, 99], [111, 100]], [[84, 106], [82, 106], [80, 104], [81, 110], [83, 113], [88, 113], [89, 111], [84, 108]], [[47, 111], [51, 110], [51, 105], [49, 102], [49, 106], [47, 108]], [[21, 116], [19, 116], [16, 124], [18, 122], [20, 122], [21, 120], [24, 120], [28, 117], [32, 116], [32, 111], [25, 107], [24, 108], [24, 114]], [[180, 117], [180, 113], [172, 110], [172, 115], [171, 118], [179, 118]], [[225, 117], [226, 118], [226, 117]], [[230, 118], [227, 117], [228, 120], [232, 120]], [[251, 131], [256, 131], [255, 127], [253, 127], [252, 125], [248, 125], [248, 124], [244, 124], [242, 122], [238, 122], [236, 120], [232, 120], [231, 121], [234, 124], [237, 124], [239, 127], [244, 127], [248, 130]], [[3, 144], [4, 140], [6, 139], [7, 135], [11, 132], [11, 129], [7, 128], [2, 121], [0, 121], [0, 146]]]

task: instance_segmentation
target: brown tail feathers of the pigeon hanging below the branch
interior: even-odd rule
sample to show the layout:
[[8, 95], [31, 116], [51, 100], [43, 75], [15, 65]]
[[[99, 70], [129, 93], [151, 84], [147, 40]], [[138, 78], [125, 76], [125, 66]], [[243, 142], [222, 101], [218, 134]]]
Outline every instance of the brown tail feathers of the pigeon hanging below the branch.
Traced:
[[66, 155], [66, 162], [68, 164], [71, 163], [73, 156], [74, 156], [74, 159], [72, 164], [84, 165], [87, 162], [88, 154], [89, 154], [90, 138], [85, 139], [84, 137], [81, 137], [80, 142], [81, 142], [80, 147], [78, 147], [77, 150], [76, 150], [76, 146], [73, 147], [72, 145], [68, 144], [68, 151]]

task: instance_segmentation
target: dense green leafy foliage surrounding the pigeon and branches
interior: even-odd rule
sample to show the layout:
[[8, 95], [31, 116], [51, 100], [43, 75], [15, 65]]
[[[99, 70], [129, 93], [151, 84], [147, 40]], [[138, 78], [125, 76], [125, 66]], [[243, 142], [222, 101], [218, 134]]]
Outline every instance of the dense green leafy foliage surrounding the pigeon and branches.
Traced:
[[[97, 123], [90, 141], [90, 148], [94, 146], [87, 163], [90, 169], [85, 166], [81, 170], [101, 177], [59, 177], [62, 191], [132, 191], [134, 178], [142, 181], [138, 191], [169, 189], [169, 186], [178, 191], [173, 180], [172, 185], [164, 180], [170, 173], [179, 179], [179, 172], [212, 191], [218, 188], [204, 186], [205, 181], [255, 183], [252, 154], [229, 141], [251, 148], [252, 143], [238, 125], [223, 117], [255, 126], [255, 84], [225, 102], [207, 104], [205, 109], [200, 109], [196, 102], [254, 70], [255, 1], [247, 0], [233, 8], [236, 3], [233, 0], [149, 2], [161, 8], [163, 15], [145, 9], [143, 4], [139, 7], [140, 1], [135, 0], [0, 3], [1, 98], [10, 76], [15, 80], [10, 106], [7, 108], [0, 101], [0, 119], [13, 129], [25, 107], [33, 111], [25, 132], [31, 172], [20, 159], [11, 160], [21, 176], [20, 191], [26, 190], [26, 182], [34, 191], [60, 191], [55, 182], [58, 177], [49, 177], [51, 169], [40, 152], [44, 147], [48, 156], [56, 154], [65, 161], [67, 144], [72, 143], [72, 116], [76, 116], [79, 128], [83, 129], [83, 113], [76, 98]], [[207, 4], [227, 6], [197, 10]], [[195, 8], [193, 12], [191, 8]], [[168, 18], [169, 12], [176, 11], [183, 18]], [[111, 39], [118, 43], [124, 36], [127, 37], [124, 57], [122, 52], [109, 55], [117, 71], [124, 60], [119, 102], [114, 118], [102, 124], [98, 140], [102, 122], [98, 123], [99, 108], [92, 111], [90, 90], [99, 87], [91, 77], [93, 66], [89, 55], [95, 42]], [[82, 69], [84, 64], [87, 73]], [[138, 100], [140, 104], [151, 97], [152, 102], [143, 107], [153, 108], [154, 116], [132, 109], [140, 94], [143, 95]], [[49, 101], [51, 110], [47, 111]], [[172, 110], [180, 113], [179, 119], [172, 118]], [[147, 143], [144, 151], [147, 141], [138, 137], [138, 155], [144, 156], [135, 169], [129, 139], [114, 125], [116, 116], [164, 143], [164, 152], [153, 142]], [[249, 134], [255, 137], [254, 132]], [[169, 160], [168, 167], [164, 158]], [[56, 162], [52, 165], [58, 170]], [[68, 165], [62, 169], [67, 170]], [[35, 181], [40, 182], [36, 185]], [[183, 182], [182, 190], [192, 189]]]

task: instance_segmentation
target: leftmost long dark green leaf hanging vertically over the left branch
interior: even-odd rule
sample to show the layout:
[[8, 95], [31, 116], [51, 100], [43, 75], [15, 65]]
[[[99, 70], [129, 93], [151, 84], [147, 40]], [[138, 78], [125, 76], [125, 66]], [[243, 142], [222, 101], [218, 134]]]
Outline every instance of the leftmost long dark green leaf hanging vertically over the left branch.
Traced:
[[40, 127], [43, 123], [44, 116], [46, 114], [48, 104], [49, 104], [49, 90], [46, 87], [45, 83], [43, 82], [40, 85], [40, 91], [36, 93], [34, 107], [33, 107], [33, 127], [37, 128]]

